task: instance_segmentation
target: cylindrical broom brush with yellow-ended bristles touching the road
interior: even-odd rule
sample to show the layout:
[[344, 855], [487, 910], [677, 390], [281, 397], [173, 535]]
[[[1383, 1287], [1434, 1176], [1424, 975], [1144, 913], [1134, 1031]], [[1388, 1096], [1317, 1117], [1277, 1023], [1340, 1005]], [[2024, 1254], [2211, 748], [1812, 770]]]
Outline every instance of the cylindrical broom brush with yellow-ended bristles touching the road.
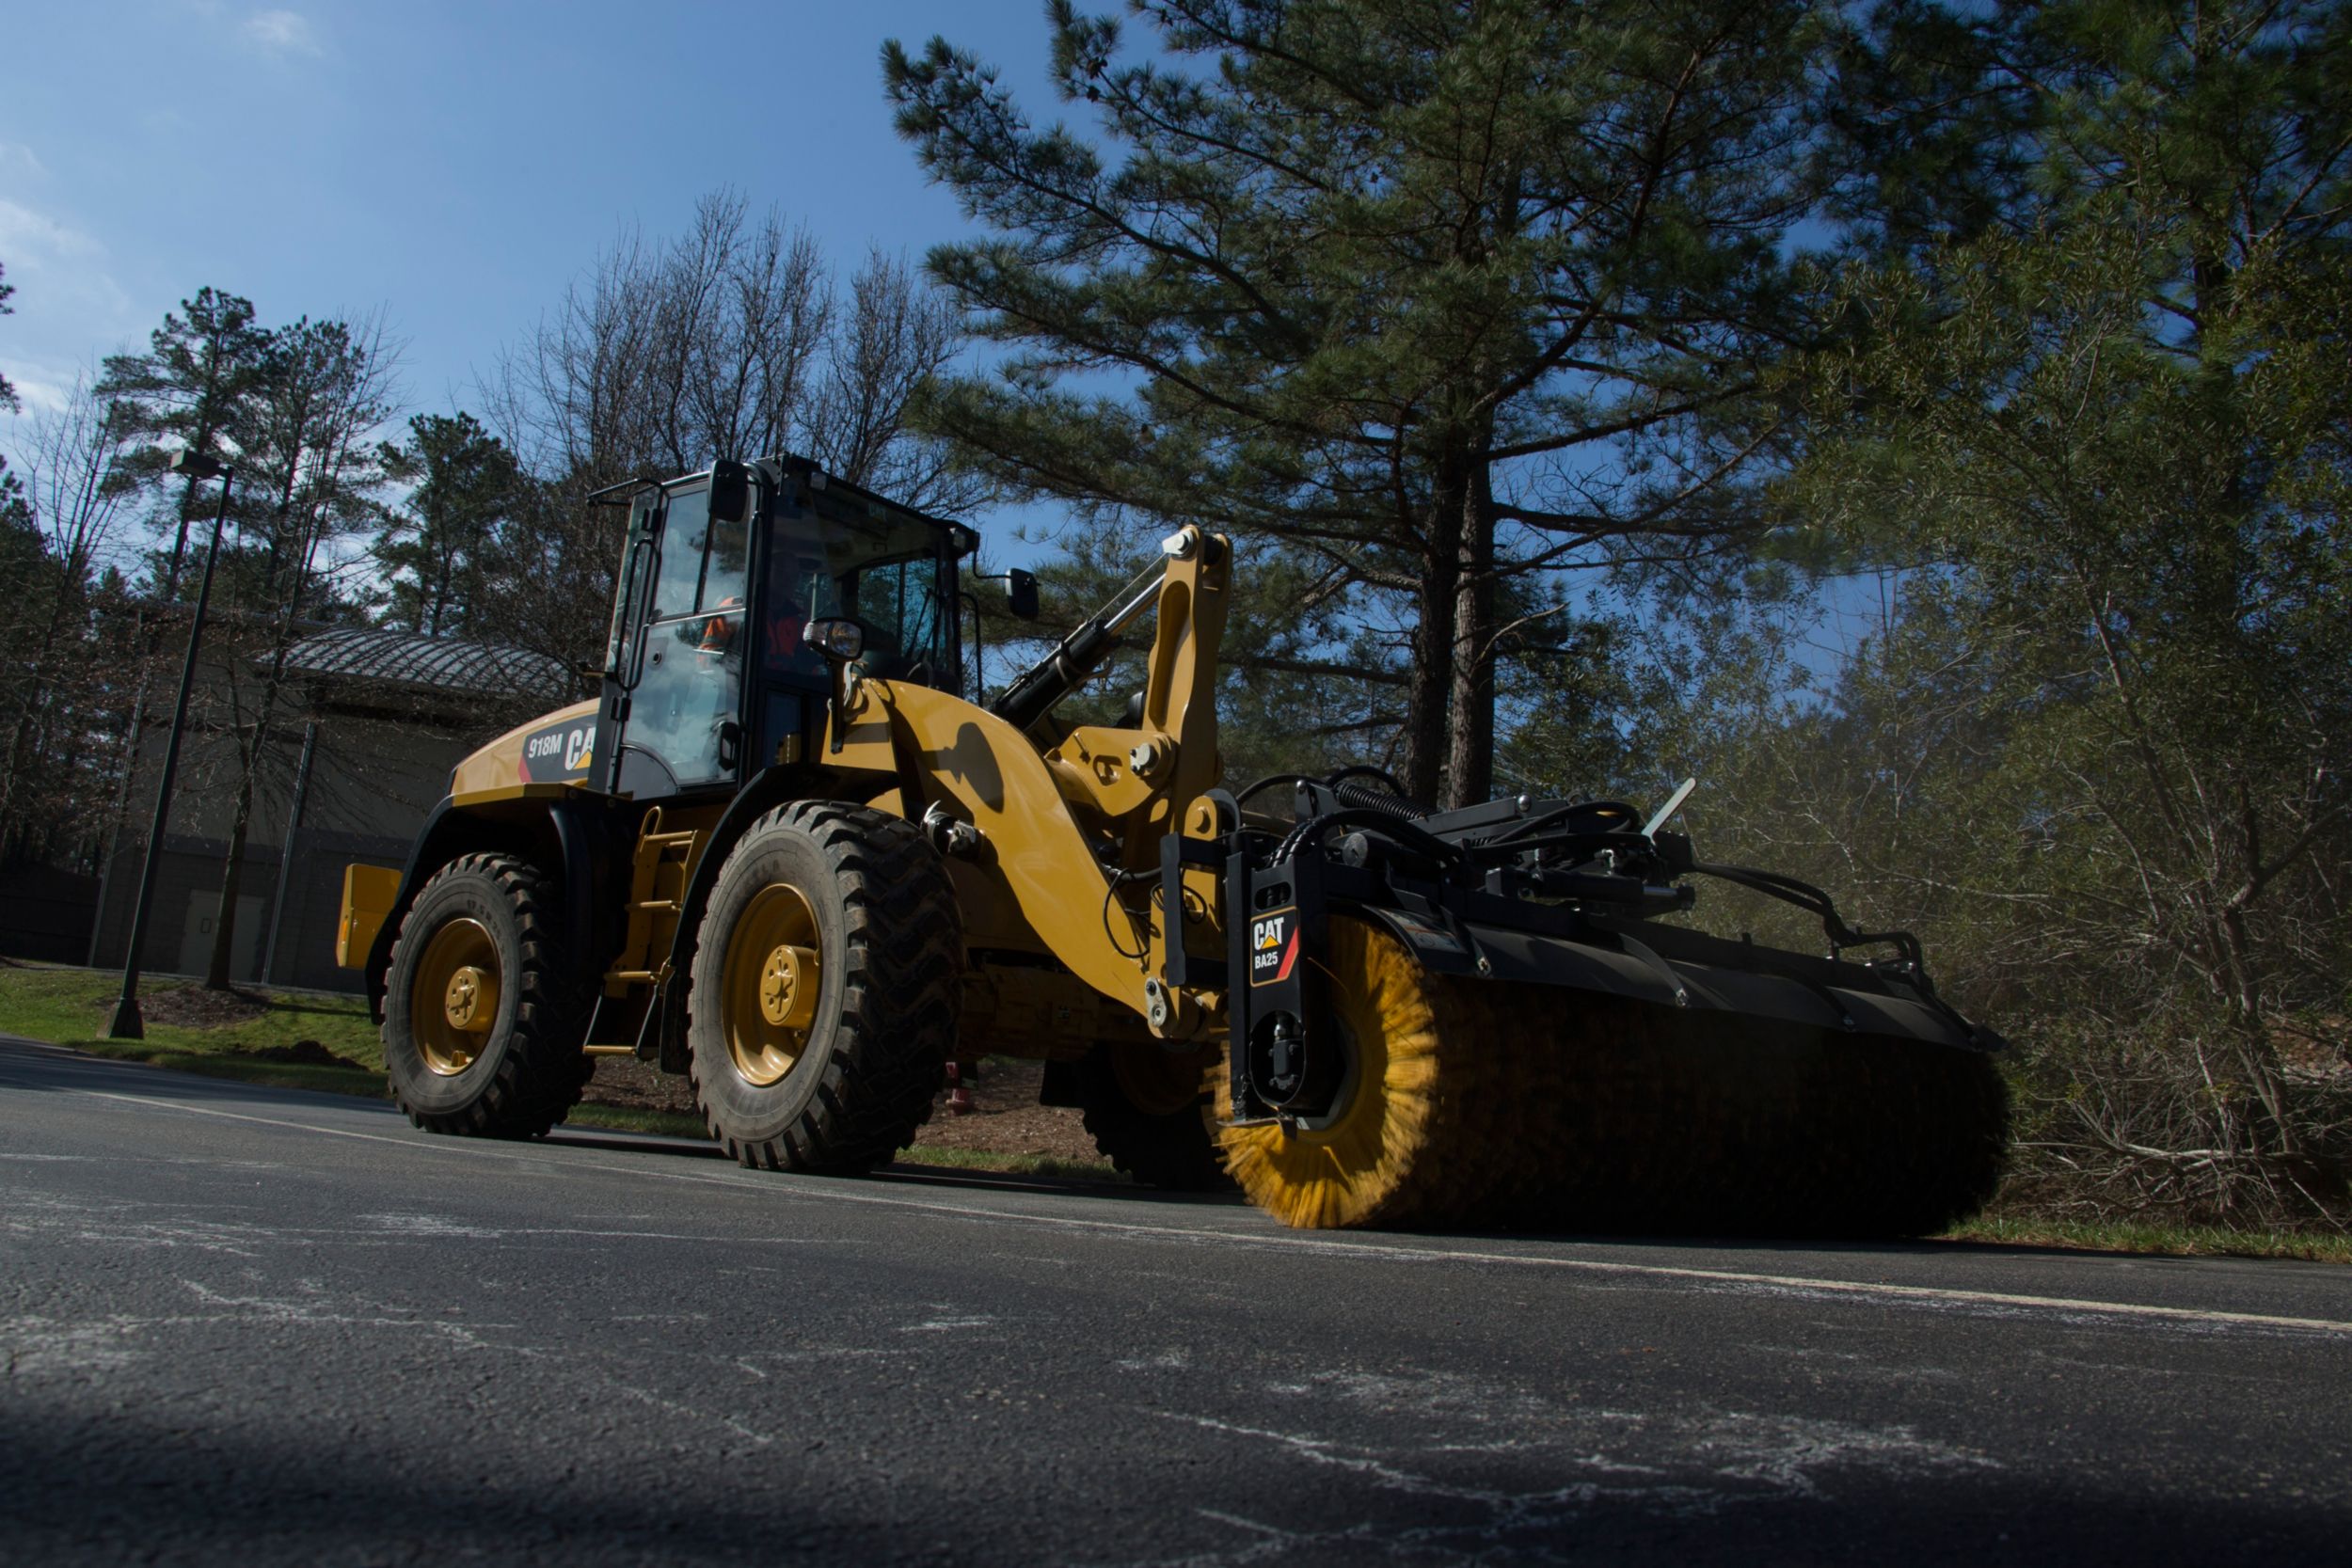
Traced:
[[1343, 917], [1327, 978], [1348, 1103], [1223, 1131], [1287, 1225], [1924, 1234], [1999, 1180], [2006, 1086], [1976, 1051], [1435, 976]]

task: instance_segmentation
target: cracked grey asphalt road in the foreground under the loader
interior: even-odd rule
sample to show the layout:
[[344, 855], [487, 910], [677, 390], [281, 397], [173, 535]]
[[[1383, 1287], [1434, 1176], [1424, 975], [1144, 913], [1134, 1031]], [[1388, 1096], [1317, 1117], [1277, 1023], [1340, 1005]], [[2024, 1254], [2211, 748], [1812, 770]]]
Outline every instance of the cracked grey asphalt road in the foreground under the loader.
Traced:
[[2352, 1269], [1331, 1237], [0, 1041], [0, 1561], [2352, 1561]]

